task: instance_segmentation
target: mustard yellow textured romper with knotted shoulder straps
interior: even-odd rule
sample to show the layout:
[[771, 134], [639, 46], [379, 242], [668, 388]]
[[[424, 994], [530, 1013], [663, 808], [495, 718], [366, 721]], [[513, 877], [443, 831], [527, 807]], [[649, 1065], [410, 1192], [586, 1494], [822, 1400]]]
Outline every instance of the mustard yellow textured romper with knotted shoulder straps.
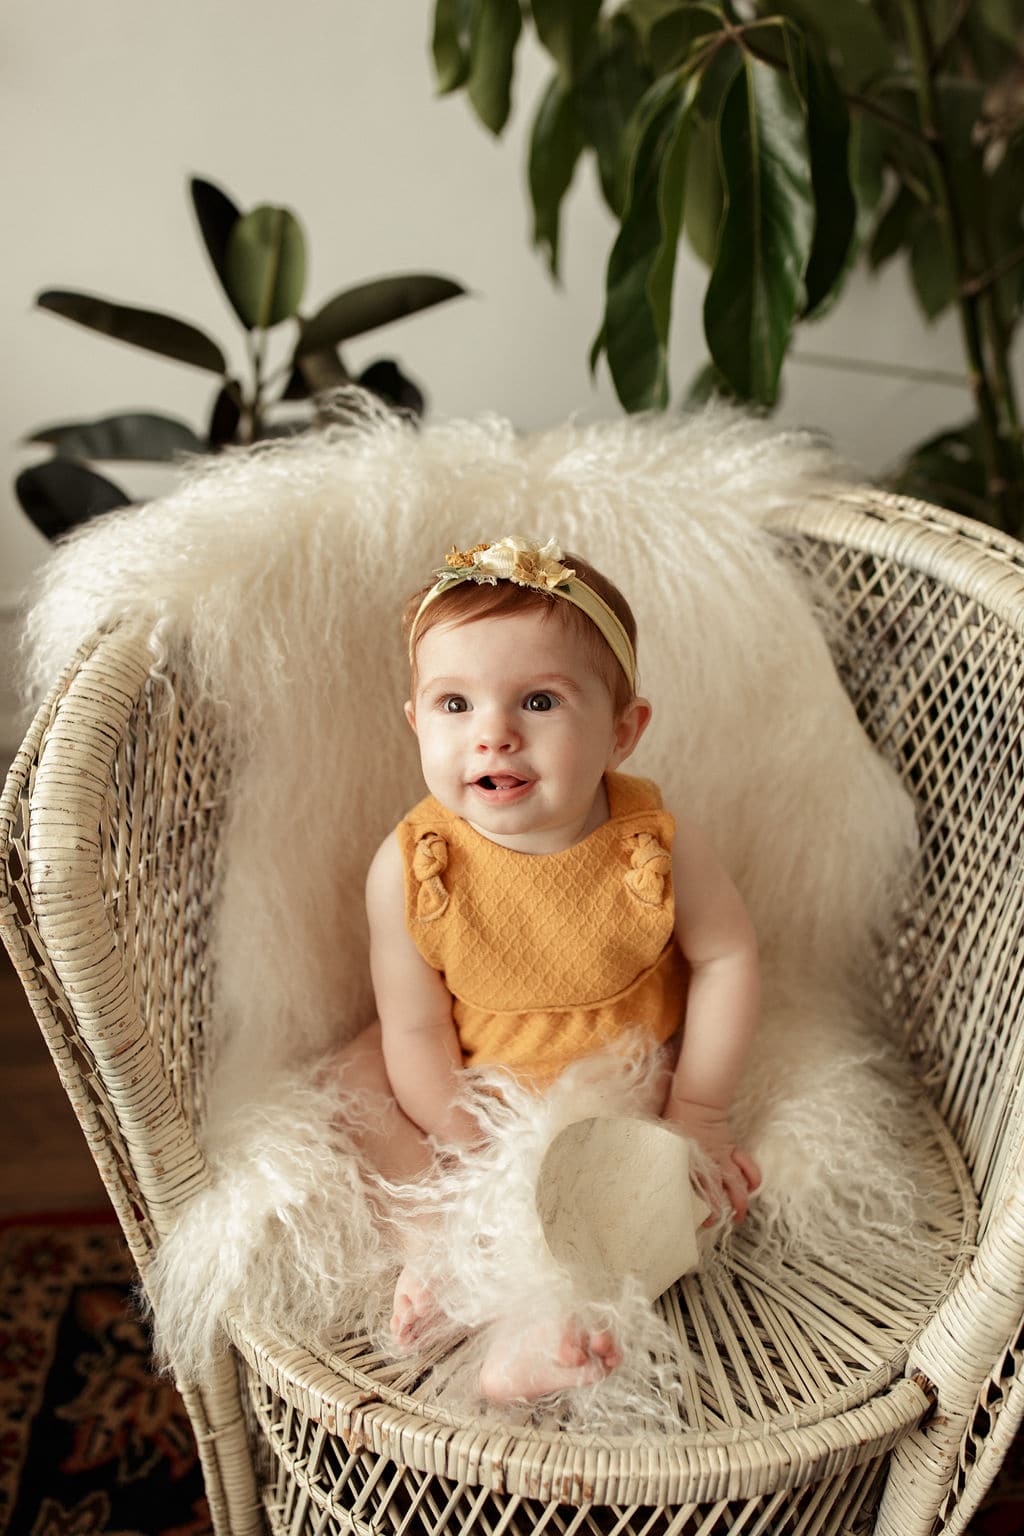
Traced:
[[493, 843], [433, 796], [398, 826], [408, 931], [451, 992], [467, 1066], [543, 1086], [626, 1032], [654, 1048], [682, 1023], [676, 823], [649, 780], [605, 786], [608, 820], [556, 854]]

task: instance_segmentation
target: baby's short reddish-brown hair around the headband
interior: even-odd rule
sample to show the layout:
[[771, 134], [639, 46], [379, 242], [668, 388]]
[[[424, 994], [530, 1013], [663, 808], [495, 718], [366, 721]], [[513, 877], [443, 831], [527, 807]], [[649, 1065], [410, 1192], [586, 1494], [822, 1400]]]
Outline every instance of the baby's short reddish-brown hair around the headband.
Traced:
[[[602, 576], [588, 561], [580, 559], [579, 554], [571, 554], [568, 550], [562, 554], [563, 562], [576, 571], [580, 581], [586, 582], [588, 587], [597, 593], [599, 598], [608, 604], [611, 611], [616, 614], [623, 630], [629, 636], [634, 654], [637, 648], [637, 621], [633, 616], [633, 608], [622, 596], [619, 588]], [[413, 593], [402, 610], [402, 637], [408, 644], [408, 634], [413, 627], [413, 621], [419, 613], [419, 605], [433, 587], [433, 582], [427, 587], [421, 587], [419, 591]], [[594, 664], [594, 671], [603, 677], [611, 693], [611, 702], [616, 714], [620, 714], [628, 703], [636, 697], [629, 679], [623, 673], [622, 667], [616, 660], [616, 654], [608, 645], [600, 630], [586, 614], [576, 607], [573, 602], [565, 602], [551, 591], [540, 591], [536, 587], [519, 587], [511, 581], [499, 581], [494, 585], [490, 582], [465, 581], [457, 587], [451, 587], [450, 591], [442, 593], [434, 602], [427, 607], [416, 625], [416, 645], [422, 641], [428, 630], [433, 630], [438, 624], [473, 624], [474, 619], [491, 619], [507, 613], [528, 613], [528, 611], [543, 613], [545, 617], [554, 617], [556, 624], [563, 625], [563, 628], [577, 634]], [[413, 696], [416, 693], [416, 650], [411, 656], [411, 688]]]

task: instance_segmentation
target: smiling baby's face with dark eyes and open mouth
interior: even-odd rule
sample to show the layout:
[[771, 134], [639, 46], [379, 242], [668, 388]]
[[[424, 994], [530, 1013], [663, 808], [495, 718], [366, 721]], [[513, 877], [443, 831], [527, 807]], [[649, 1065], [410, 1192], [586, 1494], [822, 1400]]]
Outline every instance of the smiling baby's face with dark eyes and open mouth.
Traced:
[[405, 713], [442, 805], [522, 852], [554, 852], [590, 831], [602, 776], [636, 736], [577, 634], [536, 611], [439, 624], [416, 664]]

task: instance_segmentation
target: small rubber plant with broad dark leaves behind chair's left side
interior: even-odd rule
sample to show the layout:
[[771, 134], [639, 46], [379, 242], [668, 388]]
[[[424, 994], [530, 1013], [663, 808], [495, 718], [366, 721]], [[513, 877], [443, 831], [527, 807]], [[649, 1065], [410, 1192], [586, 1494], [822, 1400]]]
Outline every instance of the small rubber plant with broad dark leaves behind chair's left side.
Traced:
[[[18, 475], [18, 501], [48, 536], [114, 507], [129, 504], [120, 485], [98, 475], [95, 461], [173, 461], [186, 453], [215, 453], [229, 444], [295, 432], [324, 410], [324, 396], [358, 382], [387, 404], [411, 415], [424, 410], [419, 387], [388, 358], [353, 376], [339, 347], [379, 326], [428, 309], [465, 292], [433, 273], [408, 272], [344, 289], [312, 312], [302, 309], [306, 237], [295, 214], [261, 204], [243, 212], [232, 198], [198, 177], [189, 183], [206, 252], [244, 333], [244, 367], [235, 367], [218, 341], [190, 321], [137, 309], [72, 289], [48, 289], [35, 300], [52, 315], [130, 346], [143, 347], [216, 381], [206, 422], [193, 429], [177, 418], [138, 410], [94, 421], [41, 427], [29, 442], [52, 456]], [[270, 366], [267, 338], [292, 327], [284, 362]]]

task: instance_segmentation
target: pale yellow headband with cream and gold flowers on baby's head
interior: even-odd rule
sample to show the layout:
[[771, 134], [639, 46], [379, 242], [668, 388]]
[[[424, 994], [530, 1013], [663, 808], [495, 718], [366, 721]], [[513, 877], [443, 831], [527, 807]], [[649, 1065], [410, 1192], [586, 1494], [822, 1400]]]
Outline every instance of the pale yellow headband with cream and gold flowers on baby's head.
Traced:
[[636, 688], [637, 659], [619, 616], [593, 587], [579, 579], [571, 567], [562, 564], [562, 550], [554, 539], [548, 539], [547, 544], [530, 544], [527, 539], [499, 539], [496, 544], [474, 544], [471, 550], [457, 550], [451, 545], [445, 554], [445, 564], [447, 570], [434, 571], [438, 581], [421, 602], [411, 622], [408, 631], [410, 660], [416, 647], [419, 621], [431, 602], [451, 591], [453, 587], [461, 587], [465, 581], [490, 587], [496, 587], [499, 581], [511, 581], [517, 587], [550, 591], [580, 608], [608, 641], [629, 687]]

